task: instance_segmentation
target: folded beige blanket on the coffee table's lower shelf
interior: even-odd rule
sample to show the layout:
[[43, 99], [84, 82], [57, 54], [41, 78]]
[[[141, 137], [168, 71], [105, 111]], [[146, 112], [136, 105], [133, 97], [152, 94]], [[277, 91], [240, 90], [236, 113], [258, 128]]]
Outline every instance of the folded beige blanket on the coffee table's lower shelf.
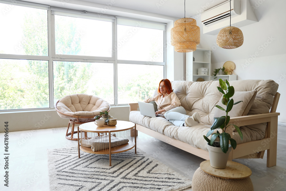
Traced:
[[[128, 143], [128, 139], [117, 138], [115, 134], [110, 136], [111, 147], [117, 147]], [[92, 151], [100, 151], [109, 148], [109, 136], [93, 137], [91, 139], [80, 139], [80, 144], [83, 147], [91, 147]]]

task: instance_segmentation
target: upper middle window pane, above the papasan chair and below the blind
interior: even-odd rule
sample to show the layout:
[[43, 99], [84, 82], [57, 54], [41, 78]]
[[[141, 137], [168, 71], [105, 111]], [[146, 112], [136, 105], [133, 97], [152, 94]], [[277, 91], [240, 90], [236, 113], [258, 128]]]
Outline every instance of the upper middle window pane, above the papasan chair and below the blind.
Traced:
[[112, 23], [55, 15], [55, 54], [111, 57]]

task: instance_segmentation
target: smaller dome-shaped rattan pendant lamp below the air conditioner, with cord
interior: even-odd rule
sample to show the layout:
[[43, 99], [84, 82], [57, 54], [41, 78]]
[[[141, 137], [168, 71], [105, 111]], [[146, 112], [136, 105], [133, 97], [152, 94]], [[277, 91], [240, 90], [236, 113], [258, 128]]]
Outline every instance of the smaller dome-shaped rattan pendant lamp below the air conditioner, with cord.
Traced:
[[[229, 5], [229, 14], [231, 14], [231, 0], [229, 0]], [[241, 29], [231, 26], [231, 15], [229, 16], [229, 27], [225, 27], [219, 31], [219, 34], [217, 35], [217, 45], [221, 48], [233, 49], [238, 48], [243, 44], [243, 34]]]

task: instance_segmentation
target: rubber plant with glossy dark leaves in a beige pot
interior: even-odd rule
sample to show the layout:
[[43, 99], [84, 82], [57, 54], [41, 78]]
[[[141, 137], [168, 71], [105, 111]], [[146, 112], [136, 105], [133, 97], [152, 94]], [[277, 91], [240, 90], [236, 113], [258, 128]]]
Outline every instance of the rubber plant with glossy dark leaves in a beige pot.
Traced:
[[[222, 169], [227, 165], [227, 159], [229, 157], [231, 147], [235, 149], [237, 146], [235, 139], [231, 138], [231, 135], [225, 132], [227, 127], [232, 127], [233, 125], [239, 133], [241, 140], [243, 139], [243, 135], [239, 127], [234, 124], [229, 124], [230, 117], [228, 115], [233, 108], [233, 105], [236, 105], [242, 101], [234, 102], [233, 99], [230, 99], [234, 95], [235, 90], [233, 86], [229, 85], [227, 80], [223, 81], [222, 79], [219, 79], [219, 84], [221, 87], [217, 87], [217, 89], [219, 92], [223, 93], [222, 103], [226, 106], [226, 109], [219, 105], [216, 105], [215, 107], [225, 111], [226, 114], [225, 116], [214, 118], [215, 121], [210, 127], [210, 130], [206, 136], [204, 135], [204, 139], [208, 142], [207, 148], [210, 156], [210, 166]], [[222, 133], [220, 133], [218, 130], [216, 133], [214, 133], [216, 129], [221, 129]], [[211, 134], [211, 139], [208, 139], [208, 136]], [[217, 138], [219, 141], [215, 141]]]

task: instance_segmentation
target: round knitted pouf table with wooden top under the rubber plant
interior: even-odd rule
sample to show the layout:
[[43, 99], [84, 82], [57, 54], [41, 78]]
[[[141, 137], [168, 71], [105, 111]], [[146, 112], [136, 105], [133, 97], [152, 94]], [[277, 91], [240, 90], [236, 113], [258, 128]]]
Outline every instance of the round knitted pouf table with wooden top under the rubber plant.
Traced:
[[227, 161], [227, 167], [217, 169], [210, 166], [206, 160], [194, 173], [192, 179], [193, 191], [253, 191], [249, 176], [251, 170], [240, 163]]

